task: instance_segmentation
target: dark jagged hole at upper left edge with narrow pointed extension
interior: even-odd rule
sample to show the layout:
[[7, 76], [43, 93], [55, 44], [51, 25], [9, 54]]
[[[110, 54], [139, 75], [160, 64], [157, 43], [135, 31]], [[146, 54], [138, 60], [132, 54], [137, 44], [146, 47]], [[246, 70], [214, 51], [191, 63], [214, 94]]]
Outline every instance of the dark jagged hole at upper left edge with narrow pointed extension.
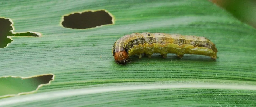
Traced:
[[11, 43], [12, 40], [7, 38], [7, 36], [39, 36], [31, 32], [13, 34], [11, 32], [11, 30], [13, 30], [11, 24], [12, 23], [9, 19], [0, 18], [0, 48], [4, 48], [8, 43]]

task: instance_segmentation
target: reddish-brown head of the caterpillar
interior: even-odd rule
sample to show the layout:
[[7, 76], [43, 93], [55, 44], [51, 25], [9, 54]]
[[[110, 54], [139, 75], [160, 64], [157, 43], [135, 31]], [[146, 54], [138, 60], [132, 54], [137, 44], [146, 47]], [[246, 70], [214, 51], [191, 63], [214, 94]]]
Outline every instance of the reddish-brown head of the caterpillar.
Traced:
[[124, 65], [129, 62], [128, 53], [126, 51], [116, 52], [114, 54], [114, 59], [117, 64]]

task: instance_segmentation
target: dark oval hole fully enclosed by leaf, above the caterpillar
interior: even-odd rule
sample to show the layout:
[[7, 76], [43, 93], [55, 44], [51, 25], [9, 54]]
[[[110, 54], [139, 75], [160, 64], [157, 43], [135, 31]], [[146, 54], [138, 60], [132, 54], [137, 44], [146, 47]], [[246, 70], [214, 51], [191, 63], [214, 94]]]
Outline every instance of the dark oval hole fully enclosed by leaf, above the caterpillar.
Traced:
[[64, 16], [62, 26], [72, 29], [87, 29], [96, 26], [113, 24], [112, 16], [105, 10], [87, 11]]

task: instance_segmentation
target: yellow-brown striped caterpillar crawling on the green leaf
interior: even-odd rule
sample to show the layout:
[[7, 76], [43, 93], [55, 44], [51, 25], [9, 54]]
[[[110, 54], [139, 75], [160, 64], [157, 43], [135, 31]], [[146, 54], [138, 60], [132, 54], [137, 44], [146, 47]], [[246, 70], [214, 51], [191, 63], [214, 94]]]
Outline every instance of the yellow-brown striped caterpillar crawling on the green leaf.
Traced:
[[185, 36], [166, 33], [132, 33], [115, 41], [112, 54], [117, 64], [130, 62], [129, 57], [146, 54], [149, 58], [153, 53], [160, 53], [163, 58], [167, 53], [175, 53], [178, 58], [184, 54], [198, 54], [217, 58], [217, 48], [206, 37]]

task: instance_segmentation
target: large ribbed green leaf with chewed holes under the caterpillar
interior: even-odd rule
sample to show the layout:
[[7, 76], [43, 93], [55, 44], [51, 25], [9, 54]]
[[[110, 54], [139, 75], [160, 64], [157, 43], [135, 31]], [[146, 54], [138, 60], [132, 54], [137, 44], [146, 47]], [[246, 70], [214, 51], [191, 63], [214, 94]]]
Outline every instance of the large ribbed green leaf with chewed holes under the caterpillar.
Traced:
[[[35, 93], [0, 99], [0, 106], [256, 106], [256, 30], [206, 0], [1, 1], [0, 17], [14, 22], [0, 49], [0, 77], [54, 74]], [[62, 16], [105, 9], [113, 25], [61, 26]], [[137, 56], [114, 62], [113, 43], [132, 32], [204, 36], [216, 44], [208, 56]]]

